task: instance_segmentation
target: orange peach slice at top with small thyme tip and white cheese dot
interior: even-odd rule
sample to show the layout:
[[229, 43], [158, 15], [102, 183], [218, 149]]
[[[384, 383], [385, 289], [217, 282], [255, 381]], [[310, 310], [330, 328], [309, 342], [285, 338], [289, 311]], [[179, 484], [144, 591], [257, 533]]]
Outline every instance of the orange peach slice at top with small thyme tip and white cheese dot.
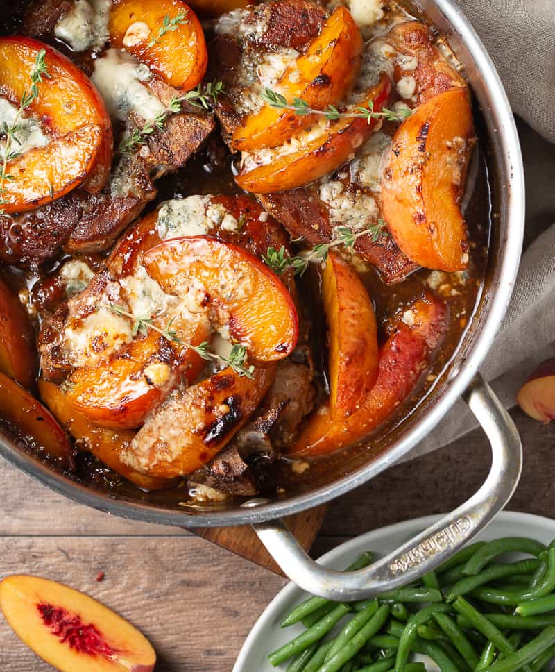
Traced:
[[[160, 36], [164, 21], [178, 16], [182, 22]], [[112, 47], [133, 53], [174, 88], [189, 91], [203, 80], [208, 64], [203, 28], [182, 0], [115, 0], [109, 31]]]

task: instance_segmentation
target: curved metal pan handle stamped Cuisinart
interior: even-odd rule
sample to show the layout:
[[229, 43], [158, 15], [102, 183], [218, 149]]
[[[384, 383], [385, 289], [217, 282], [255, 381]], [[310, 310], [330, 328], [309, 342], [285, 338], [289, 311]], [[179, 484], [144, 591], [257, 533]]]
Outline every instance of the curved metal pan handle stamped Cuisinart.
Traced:
[[[343, 573], [311, 560], [281, 520], [256, 523], [255, 532], [284, 573], [305, 591], [335, 601], [373, 598], [411, 583], [459, 550], [502, 510], [522, 469], [522, 444], [511, 417], [478, 374], [465, 401], [488, 435], [488, 478], [466, 503], [366, 569]], [[255, 505], [253, 501], [252, 505]]]

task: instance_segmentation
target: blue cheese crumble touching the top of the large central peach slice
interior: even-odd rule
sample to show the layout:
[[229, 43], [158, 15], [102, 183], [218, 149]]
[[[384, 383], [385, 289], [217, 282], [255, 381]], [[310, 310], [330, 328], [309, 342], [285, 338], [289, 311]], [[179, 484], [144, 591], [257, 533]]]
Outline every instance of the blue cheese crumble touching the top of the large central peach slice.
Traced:
[[235, 231], [239, 222], [220, 203], [212, 203], [213, 196], [189, 196], [187, 199], [166, 201], [158, 210], [156, 230], [166, 238], [206, 235], [219, 226]]

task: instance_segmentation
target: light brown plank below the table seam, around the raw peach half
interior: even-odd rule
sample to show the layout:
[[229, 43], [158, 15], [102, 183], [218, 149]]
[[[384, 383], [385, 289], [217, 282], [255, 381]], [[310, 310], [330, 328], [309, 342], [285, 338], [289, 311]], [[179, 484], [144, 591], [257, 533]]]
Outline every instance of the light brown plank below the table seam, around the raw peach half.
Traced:
[[[101, 600], [153, 643], [156, 672], [228, 672], [285, 580], [197, 537], [6, 537], [1, 576], [35, 573]], [[99, 571], [105, 579], [96, 582]], [[0, 617], [2, 669], [51, 667]], [[253, 671], [255, 672], [255, 671]]]

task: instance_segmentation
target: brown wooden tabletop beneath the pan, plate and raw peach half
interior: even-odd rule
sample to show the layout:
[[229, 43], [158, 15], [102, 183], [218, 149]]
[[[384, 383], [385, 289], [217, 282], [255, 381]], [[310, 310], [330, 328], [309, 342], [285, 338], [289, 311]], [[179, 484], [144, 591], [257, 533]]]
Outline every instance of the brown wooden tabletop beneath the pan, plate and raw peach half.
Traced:
[[[524, 474], [511, 510], [555, 515], [555, 423], [515, 410]], [[474, 432], [393, 467], [335, 501], [313, 554], [389, 523], [452, 509], [489, 467]], [[116, 519], [50, 492], [0, 460], [0, 576], [35, 573], [99, 598], [135, 623], [158, 653], [157, 672], [230, 672], [248, 631], [285, 580], [187, 532]], [[105, 573], [97, 582], [99, 572]], [[0, 621], [2, 670], [46, 672]], [[253, 672], [256, 672], [253, 670]]]

